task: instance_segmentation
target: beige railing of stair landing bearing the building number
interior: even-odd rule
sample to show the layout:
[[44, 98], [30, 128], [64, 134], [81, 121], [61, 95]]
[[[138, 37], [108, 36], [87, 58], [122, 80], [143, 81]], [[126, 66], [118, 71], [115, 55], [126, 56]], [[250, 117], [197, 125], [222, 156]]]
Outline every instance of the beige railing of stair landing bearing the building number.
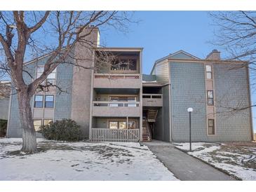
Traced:
[[142, 94], [143, 107], [162, 107], [163, 95], [162, 94]]

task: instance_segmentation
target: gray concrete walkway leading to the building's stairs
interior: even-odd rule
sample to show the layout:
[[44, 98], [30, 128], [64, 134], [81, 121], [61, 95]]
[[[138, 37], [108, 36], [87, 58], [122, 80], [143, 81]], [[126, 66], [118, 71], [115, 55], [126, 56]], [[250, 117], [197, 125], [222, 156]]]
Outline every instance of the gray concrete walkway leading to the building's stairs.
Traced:
[[144, 142], [149, 149], [182, 181], [230, 181], [228, 174], [203, 163], [187, 153], [175, 149], [175, 145], [168, 142]]

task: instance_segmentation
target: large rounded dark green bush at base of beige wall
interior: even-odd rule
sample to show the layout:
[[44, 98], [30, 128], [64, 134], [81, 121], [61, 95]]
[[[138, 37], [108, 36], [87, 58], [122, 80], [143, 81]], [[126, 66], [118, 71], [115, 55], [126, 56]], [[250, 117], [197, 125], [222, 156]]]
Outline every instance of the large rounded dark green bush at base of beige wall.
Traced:
[[40, 132], [50, 140], [74, 142], [82, 139], [80, 126], [71, 119], [50, 122], [49, 125], [41, 126]]

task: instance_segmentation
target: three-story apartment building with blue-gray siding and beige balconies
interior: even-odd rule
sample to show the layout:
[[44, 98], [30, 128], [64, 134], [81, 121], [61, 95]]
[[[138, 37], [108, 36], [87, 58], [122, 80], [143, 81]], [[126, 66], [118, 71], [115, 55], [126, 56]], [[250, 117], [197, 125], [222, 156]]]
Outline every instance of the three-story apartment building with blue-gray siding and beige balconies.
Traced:
[[[247, 62], [221, 60], [217, 50], [206, 59], [180, 50], [157, 60], [151, 74], [144, 75], [142, 48], [99, 47], [97, 29], [86, 38], [95, 50], [78, 43], [74, 54], [87, 58], [77, 62], [92, 69], [63, 63], [48, 76], [66, 91], [36, 92], [31, 101], [36, 130], [72, 118], [92, 142], [187, 141], [187, 108], [193, 107], [194, 141], [252, 140], [250, 109], [225, 111], [250, 105]], [[27, 71], [40, 76], [47, 57], [28, 62]], [[31, 81], [26, 74], [25, 79]], [[15, 94], [7, 136], [22, 137]]]

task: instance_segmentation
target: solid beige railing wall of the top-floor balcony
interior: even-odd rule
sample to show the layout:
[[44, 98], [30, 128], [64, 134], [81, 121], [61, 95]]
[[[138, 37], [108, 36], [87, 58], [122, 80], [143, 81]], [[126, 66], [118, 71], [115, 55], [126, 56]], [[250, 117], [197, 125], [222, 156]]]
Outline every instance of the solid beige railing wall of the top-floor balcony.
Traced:
[[140, 88], [140, 74], [94, 74], [94, 88]]

